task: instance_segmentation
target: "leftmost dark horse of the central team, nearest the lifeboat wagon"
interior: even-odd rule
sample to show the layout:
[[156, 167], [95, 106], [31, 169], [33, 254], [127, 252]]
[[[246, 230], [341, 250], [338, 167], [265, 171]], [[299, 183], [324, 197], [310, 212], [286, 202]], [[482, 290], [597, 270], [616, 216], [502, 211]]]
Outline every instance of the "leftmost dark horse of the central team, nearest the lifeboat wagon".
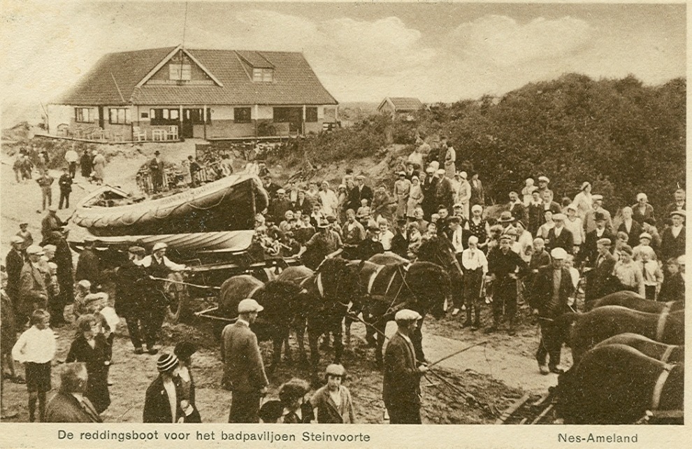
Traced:
[[265, 284], [247, 274], [233, 276], [221, 285], [219, 312], [227, 318], [238, 315], [238, 303], [245, 298], [255, 299], [264, 307], [264, 311], [259, 313], [257, 321], [253, 323], [252, 330], [257, 334], [258, 340], [271, 340], [273, 343], [272, 364], [267, 369], [269, 372], [273, 372], [279, 364], [284, 342], [286, 358], [291, 359], [288, 342], [291, 325], [296, 326], [298, 347], [301, 357], [305, 358], [305, 325], [301, 325], [302, 291], [299, 285], [286, 280], [270, 280]]

